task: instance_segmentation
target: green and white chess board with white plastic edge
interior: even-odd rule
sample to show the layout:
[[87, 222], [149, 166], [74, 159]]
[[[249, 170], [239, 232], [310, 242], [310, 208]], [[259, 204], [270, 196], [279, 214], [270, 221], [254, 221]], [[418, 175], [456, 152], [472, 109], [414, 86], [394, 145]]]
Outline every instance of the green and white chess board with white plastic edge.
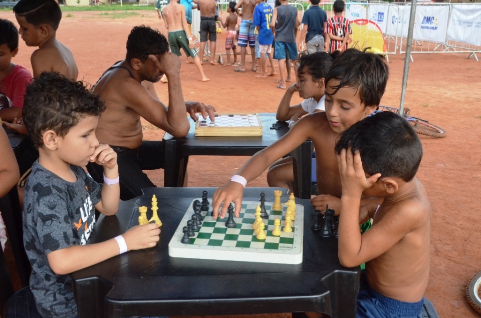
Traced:
[[[201, 201], [201, 199], [198, 199]], [[192, 200], [193, 202], [194, 200]], [[210, 201], [210, 200], [209, 200]], [[255, 221], [259, 201], [243, 201], [239, 217], [234, 217], [235, 228], [227, 228], [224, 219], [214, 220], [209, 211], [202, 211], [202, 224], [195, 235], [190, 237], [190, 243], [181, 243], [182, 228], [187, 225], [194, 211], [192, 204], [185, 212], [182, 221], [169, 243], [169, 255], [173, 257], [250, 261], [262, 263], [299, 264], [302, 262], [302, 245], [304, 233], [304, 207], [296, 204], [296, 219], [293, 221], [292, 232], [282, 232], [281, 236], [272, 235], [274, 220], [281, 219], [281, 229], [284, 227], [284, 217], [287, 206], [283, 211], [273, 211], [273, 202], [265, 202], [269, 219], [263, 219], [266, 224], [267, 238], [257, 239], [252, 224]], [[284, 204], [283, 204], [284, 205]]]

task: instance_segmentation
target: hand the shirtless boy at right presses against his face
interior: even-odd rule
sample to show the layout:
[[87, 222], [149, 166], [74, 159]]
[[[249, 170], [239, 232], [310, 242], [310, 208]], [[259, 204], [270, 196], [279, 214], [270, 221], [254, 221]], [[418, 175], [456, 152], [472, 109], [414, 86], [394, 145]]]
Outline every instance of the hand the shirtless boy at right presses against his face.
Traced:
[[337, 163], [341, 174], [343, 196], [360, 198], [362, 192], [370, 188], [381, 177], [380, 173], [376, 173], [366, 178], [361, 155], [359, 151], [353, 154], [351, 148], [341, 150], [337, 156]]

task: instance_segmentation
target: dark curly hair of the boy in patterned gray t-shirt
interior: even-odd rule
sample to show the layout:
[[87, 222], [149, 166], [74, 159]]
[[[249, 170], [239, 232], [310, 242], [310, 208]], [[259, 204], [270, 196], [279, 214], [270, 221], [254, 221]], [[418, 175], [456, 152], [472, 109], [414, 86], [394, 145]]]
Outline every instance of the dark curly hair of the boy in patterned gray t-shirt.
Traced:
[[100, 117], [104, 110], [104, 102], [82, 82], [57, 72], [43, 72], [27, 86], [23, 119], [33, 144], [41, 148], [45, 131], [53, 130], [63, 137], [81, 118]]

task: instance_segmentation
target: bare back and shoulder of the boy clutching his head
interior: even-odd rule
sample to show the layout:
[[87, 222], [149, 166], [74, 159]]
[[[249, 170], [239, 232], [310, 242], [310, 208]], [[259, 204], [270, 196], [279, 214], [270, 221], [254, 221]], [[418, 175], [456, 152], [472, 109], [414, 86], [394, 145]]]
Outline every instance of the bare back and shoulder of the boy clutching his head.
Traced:
[[403, 231], [407, 234], [366, 262], [366, 276], [369, 286], [384, 296], [416, 302], [423, 297], [429, 278], [431, 207], [421, 182], [414, 178], [409, 183], [403, 196], [384, 200], [373, 227], [364, 235], [379, 231], [391, 237]]

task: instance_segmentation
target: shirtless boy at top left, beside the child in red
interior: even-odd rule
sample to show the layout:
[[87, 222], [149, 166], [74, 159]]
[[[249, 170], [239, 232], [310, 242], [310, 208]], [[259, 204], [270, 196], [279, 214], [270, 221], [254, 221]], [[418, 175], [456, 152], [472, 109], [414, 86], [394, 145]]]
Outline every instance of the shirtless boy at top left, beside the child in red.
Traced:
[[20, 0], [14, 7], [19, 33], [28, 47], [39, 47], [30, 61], [34, 78], [42, 72], [59, 72], [77, 80], [79, 70], [72, 52], [56, 39], [62, 12], [54, 0]]

